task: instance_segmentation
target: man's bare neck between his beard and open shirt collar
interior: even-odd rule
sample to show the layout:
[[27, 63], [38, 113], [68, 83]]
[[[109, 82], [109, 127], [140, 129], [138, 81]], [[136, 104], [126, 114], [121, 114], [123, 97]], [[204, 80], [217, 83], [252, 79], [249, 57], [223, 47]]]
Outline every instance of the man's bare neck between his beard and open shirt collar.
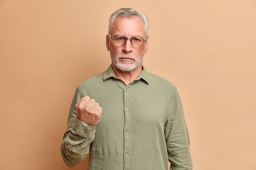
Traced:
[[142, 65], [139, 65], [132, 71], [119, 70], [114, 64], [112, 64], [112, 68], [115, 73], [115, 76], [123, 80], [126, 85], [130, 84], [134, 79], [136, 79], [142, 71]]

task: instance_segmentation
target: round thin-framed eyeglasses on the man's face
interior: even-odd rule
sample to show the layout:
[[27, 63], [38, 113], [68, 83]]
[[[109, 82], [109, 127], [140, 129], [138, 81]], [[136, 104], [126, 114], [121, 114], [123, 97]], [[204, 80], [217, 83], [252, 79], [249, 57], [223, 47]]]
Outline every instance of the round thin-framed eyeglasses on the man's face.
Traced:
[[[110, 35], [110, 33], [108, 33]], [[135, 36], [132, 38], [127, 38], [124, 35], [117, 34], [114, 37], [110, 35], [110, 38], [114, 41], [116, 45], [124, 45], [127, 40], [130, 40], [132, 46], [134, 47], [140, 47], [146, 42], [147, 40], [144, 40], [141, 36]], [[148, 38], [147, 38], [148, 39]]]

